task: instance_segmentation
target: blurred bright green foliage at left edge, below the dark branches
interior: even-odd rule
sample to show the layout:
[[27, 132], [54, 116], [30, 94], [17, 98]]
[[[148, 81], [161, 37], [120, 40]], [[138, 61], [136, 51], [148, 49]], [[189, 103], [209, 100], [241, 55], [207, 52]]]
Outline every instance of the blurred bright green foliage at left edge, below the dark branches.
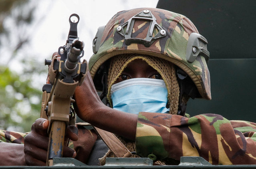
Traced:
[[7, 67], [1, 66], [0, 74], [0, 128], [30, 131], [39, 117], [42, 92], [31, 87], [31, 80], [20, 78]]

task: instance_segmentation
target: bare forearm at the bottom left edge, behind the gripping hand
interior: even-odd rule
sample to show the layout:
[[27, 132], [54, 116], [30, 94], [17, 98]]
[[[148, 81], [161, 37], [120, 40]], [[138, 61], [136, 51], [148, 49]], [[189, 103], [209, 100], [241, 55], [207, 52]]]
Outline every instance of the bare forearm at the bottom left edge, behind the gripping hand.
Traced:
[[26, 165], [23, 144], [0, 143], [0, 150], [0, 165]]

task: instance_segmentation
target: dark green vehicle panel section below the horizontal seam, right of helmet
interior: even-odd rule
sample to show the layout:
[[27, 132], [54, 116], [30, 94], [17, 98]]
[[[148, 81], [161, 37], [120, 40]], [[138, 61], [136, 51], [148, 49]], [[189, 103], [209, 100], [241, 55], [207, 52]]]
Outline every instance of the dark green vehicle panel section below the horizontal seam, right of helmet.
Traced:
[[190, 99], [187, 112], [256, 122], [256, 59], [212, 59], [208, 65], [212, 100]]

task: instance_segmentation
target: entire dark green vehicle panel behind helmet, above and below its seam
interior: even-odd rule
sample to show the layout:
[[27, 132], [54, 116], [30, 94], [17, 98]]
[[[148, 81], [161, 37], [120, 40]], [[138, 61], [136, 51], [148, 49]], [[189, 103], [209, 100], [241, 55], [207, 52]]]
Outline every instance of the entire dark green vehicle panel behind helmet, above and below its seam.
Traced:
[[189, 100], [187, 113], [256, 122], [256, 1], [159, 0], [187, 16], [208, 40], [212, 100]]

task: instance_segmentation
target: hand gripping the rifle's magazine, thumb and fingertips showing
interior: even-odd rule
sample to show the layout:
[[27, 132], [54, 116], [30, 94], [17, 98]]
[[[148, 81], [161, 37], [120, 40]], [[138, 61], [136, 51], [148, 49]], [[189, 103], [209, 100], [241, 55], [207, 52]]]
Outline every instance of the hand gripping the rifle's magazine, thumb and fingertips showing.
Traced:
[[[32, 127], [31, 132], [24, 138], [25, 162], [27, 165], [46, 165], [47, 149], [48, 149], [48, 129], [49, 121], [47, 119], [37, 119]], [[66, 137], [76, 141], [78, 129], [74, 125], [67, 127]], [[74, 149], [64, 145], [63, 157], [75, 158], [77, 155]]]

